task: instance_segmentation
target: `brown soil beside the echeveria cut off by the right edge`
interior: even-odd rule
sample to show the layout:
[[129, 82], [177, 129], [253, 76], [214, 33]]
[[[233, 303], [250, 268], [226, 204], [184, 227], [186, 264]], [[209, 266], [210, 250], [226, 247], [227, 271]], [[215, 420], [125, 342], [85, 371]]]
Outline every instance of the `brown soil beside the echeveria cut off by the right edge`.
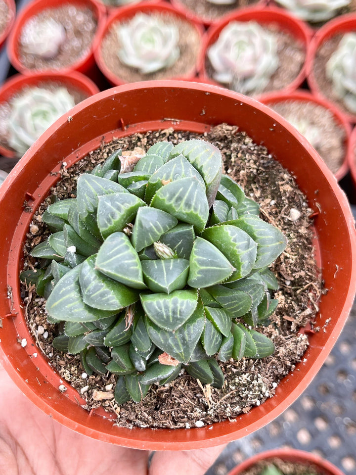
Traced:
[[342, 111], [350, 113], [352, 111], [350, 111], [344, 101], [339, 99], [334, 93], [332, 82], [326, 76], [326, 63], [333, 52], [339, 47], [342, 37], [342, 34], [334, 35], [318, 48], [315, 54], [313, 73], [320, 93], [327, 99], [335, 102]]

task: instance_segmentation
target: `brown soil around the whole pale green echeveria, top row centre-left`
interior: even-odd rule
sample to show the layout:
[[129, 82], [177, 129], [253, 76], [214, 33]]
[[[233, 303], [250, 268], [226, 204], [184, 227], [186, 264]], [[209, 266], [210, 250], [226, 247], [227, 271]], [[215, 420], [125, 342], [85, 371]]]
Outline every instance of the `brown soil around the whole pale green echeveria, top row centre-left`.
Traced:
[[155, 13], [154, 16], [161, 18], [166, 23], [174, 23], [179, 31], [179, 51], [178, 60], [170, 67], [161, 69], [154, 73], [142, 74], [136, 68], [123, 64], [117, 54], [120, 42], [116, 33], [119, 22], [114, 23], [101, 43], [101, 55], [107, 68], [121, 82], [133, 83], [135, 81], [145, 81], [151, 79], [172, 79], [179, 78], [192, 72], [196, 72], [198, 53], [201, 47], [201, 38], [191, 23], [170, 13]]

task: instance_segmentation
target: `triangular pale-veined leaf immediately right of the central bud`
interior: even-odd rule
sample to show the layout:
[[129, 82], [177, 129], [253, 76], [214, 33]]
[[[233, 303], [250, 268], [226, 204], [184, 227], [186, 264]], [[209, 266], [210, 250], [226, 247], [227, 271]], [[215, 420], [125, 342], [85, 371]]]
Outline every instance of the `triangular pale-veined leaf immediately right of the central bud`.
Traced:
[[218, 284], [226, 280], [234, 270], [214, 244], [203, 238], [195, 239], [189, 259], [188, 285], [199, 288]]

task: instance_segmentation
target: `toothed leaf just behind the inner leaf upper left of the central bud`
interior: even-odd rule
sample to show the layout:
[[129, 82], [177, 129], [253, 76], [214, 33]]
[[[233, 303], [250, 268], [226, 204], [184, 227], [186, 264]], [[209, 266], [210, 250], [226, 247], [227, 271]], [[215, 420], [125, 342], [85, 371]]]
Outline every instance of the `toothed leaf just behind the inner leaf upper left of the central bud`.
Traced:
[[134, 219], [140, 206], [145, 206], [144, 201], [131, 193], [99, 196], [97, 225], [102, 237], [107, 238], [115, 231], [123, 231]]

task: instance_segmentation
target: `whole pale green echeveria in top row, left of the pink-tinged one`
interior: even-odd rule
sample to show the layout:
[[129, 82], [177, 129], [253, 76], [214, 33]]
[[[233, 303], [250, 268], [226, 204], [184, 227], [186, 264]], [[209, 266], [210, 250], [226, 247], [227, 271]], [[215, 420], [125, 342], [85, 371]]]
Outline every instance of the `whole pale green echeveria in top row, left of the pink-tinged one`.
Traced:
[[164, 17], [137, 13], [117, 26], [117, 35], [120, 61], [142, 74], [168, 68], [179, 58], [178, 27]]

